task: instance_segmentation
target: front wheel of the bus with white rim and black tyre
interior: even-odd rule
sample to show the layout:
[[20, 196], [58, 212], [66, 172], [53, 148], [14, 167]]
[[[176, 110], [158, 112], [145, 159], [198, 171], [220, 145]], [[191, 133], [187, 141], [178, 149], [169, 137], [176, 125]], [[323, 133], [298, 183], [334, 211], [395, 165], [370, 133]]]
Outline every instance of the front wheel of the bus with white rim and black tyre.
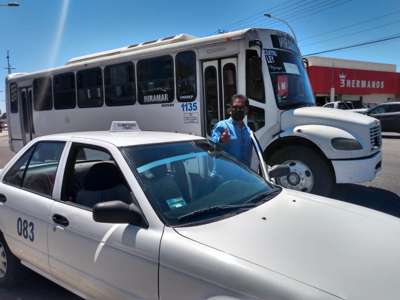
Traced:
[[276, 183], [290, 189], [327, 196], [333, 183], [328, 163], [310, 148], [288, 146], [271, 155], [269, 165], [285, 164], [290, 173], [276, 178]]

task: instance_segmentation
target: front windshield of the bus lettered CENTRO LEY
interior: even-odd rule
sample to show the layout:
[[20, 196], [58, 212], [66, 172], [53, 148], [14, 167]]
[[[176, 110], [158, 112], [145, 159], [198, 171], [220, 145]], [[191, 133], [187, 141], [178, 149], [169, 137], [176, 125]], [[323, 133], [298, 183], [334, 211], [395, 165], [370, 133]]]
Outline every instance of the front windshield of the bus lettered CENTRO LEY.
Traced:
[[301, 58], [276, 49], [264, 49], [276, 105], [279, 109], [314, 106], [311, 86]]

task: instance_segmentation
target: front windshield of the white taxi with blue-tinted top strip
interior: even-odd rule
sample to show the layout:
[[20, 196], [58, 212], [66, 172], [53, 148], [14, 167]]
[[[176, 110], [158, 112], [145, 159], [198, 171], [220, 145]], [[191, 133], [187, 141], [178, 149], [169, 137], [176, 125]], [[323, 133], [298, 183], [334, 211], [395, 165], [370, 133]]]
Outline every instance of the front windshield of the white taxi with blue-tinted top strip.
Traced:
[[226, 218], [280, 191], [207, 140], [122, 150], [152, 207], [171, 226]]

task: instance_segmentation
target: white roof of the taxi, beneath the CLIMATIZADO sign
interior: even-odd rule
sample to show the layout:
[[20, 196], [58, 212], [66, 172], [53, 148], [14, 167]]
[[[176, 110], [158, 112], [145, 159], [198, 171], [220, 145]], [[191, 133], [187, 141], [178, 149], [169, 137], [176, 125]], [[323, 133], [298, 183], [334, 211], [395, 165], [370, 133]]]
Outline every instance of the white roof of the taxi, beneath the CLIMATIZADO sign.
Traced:
[[118, 147], [205, 139], [194, 134], [161, 131], [82, 131], [50, 134], [38, 139], [69, 140], [72, 137], [102, 140]]

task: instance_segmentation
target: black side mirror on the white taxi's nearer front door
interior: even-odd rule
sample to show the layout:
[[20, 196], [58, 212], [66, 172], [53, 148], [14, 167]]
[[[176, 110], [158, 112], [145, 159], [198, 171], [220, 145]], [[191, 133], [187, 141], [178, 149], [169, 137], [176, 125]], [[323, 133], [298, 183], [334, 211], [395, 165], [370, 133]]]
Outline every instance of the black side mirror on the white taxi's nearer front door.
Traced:
[[95, 204], [92, 216], [93, 220], [99, 223], [128, 223], [148, 228], [143, 214], [134, 204], [127, 204], [119, 200]]

